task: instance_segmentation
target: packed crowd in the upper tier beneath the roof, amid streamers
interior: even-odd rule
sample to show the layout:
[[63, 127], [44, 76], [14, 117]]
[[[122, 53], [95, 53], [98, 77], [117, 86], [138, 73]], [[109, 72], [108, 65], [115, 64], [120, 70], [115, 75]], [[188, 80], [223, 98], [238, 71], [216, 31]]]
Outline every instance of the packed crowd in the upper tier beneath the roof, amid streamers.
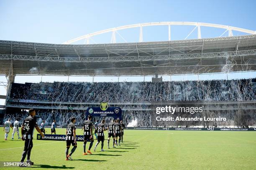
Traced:
[[256, 100], [255, 79], [152, 82], [12, 84], [10, 99], [60, 102]]

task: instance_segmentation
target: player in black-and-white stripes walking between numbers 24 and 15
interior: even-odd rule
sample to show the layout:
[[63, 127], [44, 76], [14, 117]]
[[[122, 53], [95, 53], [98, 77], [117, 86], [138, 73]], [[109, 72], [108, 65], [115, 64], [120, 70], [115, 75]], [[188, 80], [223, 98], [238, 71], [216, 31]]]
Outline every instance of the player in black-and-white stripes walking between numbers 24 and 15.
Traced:
[[[66, 143], [67, 143], [66, 160], [73, 160], [71, 155], [77, 149], [77, 137], [76, 137], [77, 126], [75, 125], [76, 118], [72, 117], [70, 119], [70, 121], [71, 122], [68, 124], [67, 130], [66, 130]], [[69, 154], [69, 147], [71, 144], [72, 144], [73, 148]]]

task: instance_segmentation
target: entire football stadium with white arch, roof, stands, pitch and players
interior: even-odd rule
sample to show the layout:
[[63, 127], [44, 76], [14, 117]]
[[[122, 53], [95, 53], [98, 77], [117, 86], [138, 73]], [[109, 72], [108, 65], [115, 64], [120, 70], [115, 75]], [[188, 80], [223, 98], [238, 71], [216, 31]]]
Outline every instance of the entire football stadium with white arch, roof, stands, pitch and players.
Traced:
[[[177, 25], [192, 30], [172, 40]], [[144, 41], [158, 26], [167, 41]], [[138, 41], [125, 41], [128, 29]], [[62, 43], [0, 40], [0, 169], [256, 169], [255, 29], [168, 21]], [[93, 41], [106, 33], [110, 43]]]

